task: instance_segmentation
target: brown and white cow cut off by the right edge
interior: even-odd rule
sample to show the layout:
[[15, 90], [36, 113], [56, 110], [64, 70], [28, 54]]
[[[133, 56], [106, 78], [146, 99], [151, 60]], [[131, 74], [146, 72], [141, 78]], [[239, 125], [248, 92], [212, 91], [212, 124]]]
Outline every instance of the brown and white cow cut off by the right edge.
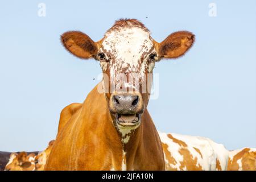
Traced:
[[228, 171], [256, 171], [256, 148], [229, 151]]

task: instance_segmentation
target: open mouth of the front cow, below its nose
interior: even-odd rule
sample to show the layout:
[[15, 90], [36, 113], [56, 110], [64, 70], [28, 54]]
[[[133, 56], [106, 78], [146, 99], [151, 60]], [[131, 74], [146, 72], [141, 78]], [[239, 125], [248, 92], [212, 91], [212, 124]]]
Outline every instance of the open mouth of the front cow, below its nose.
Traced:
[[141, 114], [117, 114], [117, 123], [122, 126], [135, 126], [141, 122]]

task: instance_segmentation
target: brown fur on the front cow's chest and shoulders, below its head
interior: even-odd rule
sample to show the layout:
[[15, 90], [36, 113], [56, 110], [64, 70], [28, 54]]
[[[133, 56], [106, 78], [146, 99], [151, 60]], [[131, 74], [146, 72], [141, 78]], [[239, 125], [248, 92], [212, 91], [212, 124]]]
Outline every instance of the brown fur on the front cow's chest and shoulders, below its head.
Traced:
[[[128, 170], [164, 169], [160, 138], [147, 110], [125, 150]], [[96, 86], [57, 134], [45, 169], [120, 170], [121, 166], [121, 138], [112, 123], [105, 96], [97, 92]]]

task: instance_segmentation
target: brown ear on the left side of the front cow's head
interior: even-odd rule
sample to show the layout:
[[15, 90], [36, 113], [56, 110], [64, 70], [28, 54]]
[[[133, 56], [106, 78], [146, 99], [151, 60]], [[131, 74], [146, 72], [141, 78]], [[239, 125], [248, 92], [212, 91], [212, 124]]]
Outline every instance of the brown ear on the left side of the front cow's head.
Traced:
[[80, 31], [69, 31], [61, 35], [63, 46], [81, 59], [96, 58], [101, 42], [93, 42], [88, 35]]

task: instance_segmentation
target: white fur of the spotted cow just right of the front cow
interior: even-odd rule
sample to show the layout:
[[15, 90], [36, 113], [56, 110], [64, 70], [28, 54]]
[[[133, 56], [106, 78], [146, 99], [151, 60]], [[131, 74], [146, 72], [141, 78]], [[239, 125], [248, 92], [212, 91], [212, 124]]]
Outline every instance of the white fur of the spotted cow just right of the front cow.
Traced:
[[[160, 133], [159, 136], [163, 143], [168, 145], [168, 151], [176, 160], [177, 164], [170, 164], [171, 167], [180, 169], [180, 162], [183, 161], [183, 156], [179, 153], [180, 148], [179, 144], [174, 142], [171, 138], [167, 136], [166, 133]], [[209, 138], [204, 137], [193, 137], [188, 135], [180, 135], [171, 133], [172, 137], [181, 140], [187, 144], [187, 149], [193, 156], [193, 159], [197, 158], [197, 167], [200, 166], [203, 170], [216, 170], [216, 159], [220, 161], [222, 170], [225, 170], [228, 164], [228, 151], [222, 144], [218, 144], [210, 140]], [[199, 152], [195, 148], [200, 150]], [[166, 158], [166, 156], [165, 156]], [[166, 159], [166, 162], [168, 160]]]

